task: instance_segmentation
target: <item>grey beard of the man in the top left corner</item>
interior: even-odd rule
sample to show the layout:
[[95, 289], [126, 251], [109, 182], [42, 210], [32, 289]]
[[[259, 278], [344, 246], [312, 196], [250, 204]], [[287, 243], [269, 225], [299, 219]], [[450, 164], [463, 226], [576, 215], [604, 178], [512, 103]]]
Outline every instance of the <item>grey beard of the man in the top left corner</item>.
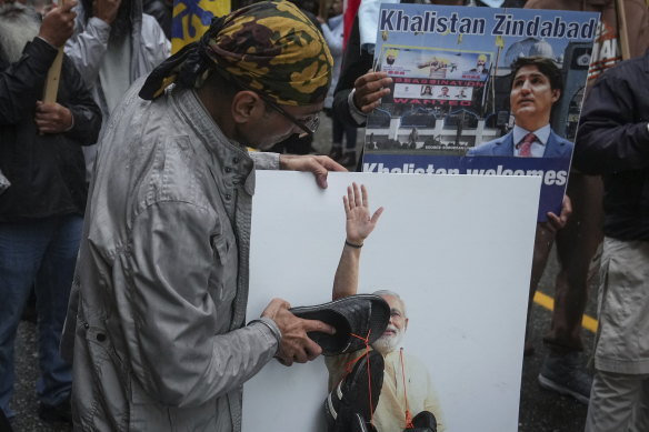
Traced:
[[3, 60], [17, 62], [39, 29], [40, 20], [34, 10], [18, 2], [0, 6], [0, 54]]

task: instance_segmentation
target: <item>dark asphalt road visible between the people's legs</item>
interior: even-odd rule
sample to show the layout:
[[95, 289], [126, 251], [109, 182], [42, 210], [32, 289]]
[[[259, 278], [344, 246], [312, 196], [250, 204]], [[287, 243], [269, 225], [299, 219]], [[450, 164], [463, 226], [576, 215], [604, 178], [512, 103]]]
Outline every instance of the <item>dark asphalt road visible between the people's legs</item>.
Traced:
[[[322, 118], [321, 130], [318, 131], [313, 147], [322, 153], [329, 150], [329, 137], [331, 137], [330, 121]], [[362, 133], [359, 133], [359, 142]], [[553, 293], [553, 280], [557, 274], [557, 262], [552, 257], [540, 283], [540, 291], [548, 295]], [[521, 287], [527, 290], [527, 287]], [[587, 313], [593, 317], [596, 288], [591, 287], [591, 299]], [[557, 395], [542, 390], [537, 383], [537, 375], [541, 368], [546, 349], [542, 344], [542, 335], [549, 328], [551, 312], [535, 305], [532, 310], [530, 336], [536, 346], [536, 354], [525, 359], [522, 369], [522, 383], [520, 396], [519, 432], [581, 432], [586, 418], [586, 406], [566, 396]], [[583, 359], [590, 355], [592, 346], [592, 333], [583, 331], [587, 351]], [[17, 345], [17, 383], [13, 398], [13, 408], [18, 412], [13, 422], [16, 432], [63, 432], [70, 429], [64, 424], [47, 424], [37, 415], [38, 401], [33, 383], [38, 376], [38, 353], [36, 340], [36, 326], [22, 322], [19, 326]], [[479, 368], [479, 359], [476, 366]], [[485, 401], [490, 403], [490, 401]], [[467, 413], [470, 415], [470, 413]], [[2, 431], [0, 431], [2, 432]], [[269, 431], [276, 432], [276, 431]], [[463, 432], [463, 431], [460, 431]], [[471, 432], [471, 431], [466, 431]]]

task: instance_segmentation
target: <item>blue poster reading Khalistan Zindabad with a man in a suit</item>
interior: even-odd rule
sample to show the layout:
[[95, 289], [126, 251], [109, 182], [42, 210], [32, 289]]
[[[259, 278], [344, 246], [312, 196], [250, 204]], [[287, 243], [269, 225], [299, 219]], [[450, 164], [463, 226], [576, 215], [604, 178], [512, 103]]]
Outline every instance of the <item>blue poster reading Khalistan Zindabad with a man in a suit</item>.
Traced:
[[368, 117], [363, 171], [540, 175], [538, 220], [559, 214], [598, 18], [382, 4], [373, 69], [393, 82]]

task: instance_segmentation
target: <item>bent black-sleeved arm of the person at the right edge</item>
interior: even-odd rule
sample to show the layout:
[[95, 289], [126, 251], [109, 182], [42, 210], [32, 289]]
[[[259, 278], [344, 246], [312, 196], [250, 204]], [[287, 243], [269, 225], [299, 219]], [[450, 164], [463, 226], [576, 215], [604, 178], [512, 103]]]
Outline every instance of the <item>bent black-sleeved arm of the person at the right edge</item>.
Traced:
[[636, 100], [633, 86], [649, 86], [649, 81], [630, 82], [619, 73], [605, 73], [590, 90], [572, 158], [578, 170], [609, 174], [649, 167], [649, 123], [640, 121], [647, 113], [638, 112], [646, 101]]

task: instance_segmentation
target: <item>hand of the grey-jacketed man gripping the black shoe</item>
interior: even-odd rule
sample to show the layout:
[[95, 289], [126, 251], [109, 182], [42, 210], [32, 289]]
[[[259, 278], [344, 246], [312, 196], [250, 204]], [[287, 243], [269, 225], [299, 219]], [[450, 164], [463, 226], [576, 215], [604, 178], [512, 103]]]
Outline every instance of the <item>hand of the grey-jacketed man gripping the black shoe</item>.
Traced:
[[322, 353], [322, 349], [309, 339], [307, 332], [336, 333], [336, 329], [321, 321], [303, 320], [289, 312], [290, 304], [281, 299], [273, 299], [261, 313], [270, 318], [281, 331], [281, 343], [277, 359], [290, 366], [293, 362], [306, 363]]

